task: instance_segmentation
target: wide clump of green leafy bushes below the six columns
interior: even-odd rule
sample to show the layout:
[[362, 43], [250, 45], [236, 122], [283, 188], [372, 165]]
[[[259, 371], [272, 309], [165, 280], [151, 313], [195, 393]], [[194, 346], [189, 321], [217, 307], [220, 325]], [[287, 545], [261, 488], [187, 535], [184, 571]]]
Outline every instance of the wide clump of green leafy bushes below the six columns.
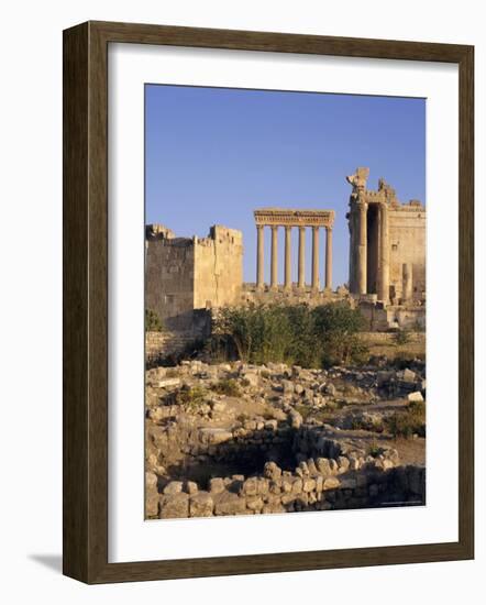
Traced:
[[335, 302], [224, 307], [213, 318], [213, 358], [235, 356], [247, 363], [268, 362], [321, 367], [362, 363], [366, 345], [356, 337], [364, 328], [358, 310]]

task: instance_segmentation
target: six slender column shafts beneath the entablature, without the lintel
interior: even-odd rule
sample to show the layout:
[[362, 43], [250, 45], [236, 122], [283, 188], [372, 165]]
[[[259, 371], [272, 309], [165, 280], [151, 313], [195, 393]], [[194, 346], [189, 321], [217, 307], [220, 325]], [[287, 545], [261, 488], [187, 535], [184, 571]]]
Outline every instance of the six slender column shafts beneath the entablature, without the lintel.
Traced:
[[[270, 253], [270, 289], [278, 288], [278, 228], [277, 224], [269, 226], [272, 229], [272, 253]], [[284, 288], [291, 289], [291, 227], [283, 226], [285, 229], [285, 271]], [[256, 287], [265, 287], [264, 279], [264, 228], [256, 226]], [[320, 289], [319, 280], [319, 227], [312, 227], [312, 282], [313, 290]], [[298, 282], [299, 289], [306, 287], [306, 228], [298, 227], [299, 251], [298, 251]], [[325, 227], [325, 288], [332, 288], [332, 228]]]

